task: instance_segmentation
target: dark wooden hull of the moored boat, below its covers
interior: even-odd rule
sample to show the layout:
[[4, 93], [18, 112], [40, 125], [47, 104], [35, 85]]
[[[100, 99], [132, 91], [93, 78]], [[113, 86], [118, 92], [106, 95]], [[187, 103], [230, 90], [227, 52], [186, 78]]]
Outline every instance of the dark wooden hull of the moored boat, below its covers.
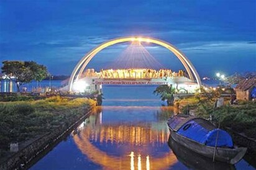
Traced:
[[[170, 127], [169, 127], [170, 129]], [[186, 138], [183, 135], [177, 134], [175, 131], [170, 129], [170, 137], [175, 142], [180, 143], [184, 147], [199, 153], [200, 155], [208, 158], [213, 158], [215, 147], [209, 147], [201, 143], [195, 142], [190, 138]], [[216, 147], [216, 154], [214, 160], [222, 161], [226, 163], [235, 164], [245, 155], [247, 148], [220, 148]]]

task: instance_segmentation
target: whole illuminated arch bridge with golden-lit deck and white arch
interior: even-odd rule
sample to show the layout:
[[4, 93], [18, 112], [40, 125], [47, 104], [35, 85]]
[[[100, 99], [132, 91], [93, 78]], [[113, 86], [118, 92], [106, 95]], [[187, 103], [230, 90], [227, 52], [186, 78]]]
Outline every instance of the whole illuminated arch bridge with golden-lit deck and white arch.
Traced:
[[[154, 43], [169, 49], [180, 60], [185, 67], [185, 72], [171, 72], [171, 70], [150, 70], [150, 69], [126, 69], [126, 70], [101, 70], [94, 72], [93, 69], [86, 69], [88, 63], [99, 51], [108, 46], [127, 41], [140, 41]], [[101, 90], [103, 84], [108, 85], [174, 85], [177, 90], [183, 89], [189, 93], [201, 87], [201, 80], [198, 72], [190, 60], [175, 46], [163, 40], [149, 37], [127, 36], [106, 41], [89, 51], [76, 64], [70, 76], [68, 85], [63, 90], [85, 91]]]

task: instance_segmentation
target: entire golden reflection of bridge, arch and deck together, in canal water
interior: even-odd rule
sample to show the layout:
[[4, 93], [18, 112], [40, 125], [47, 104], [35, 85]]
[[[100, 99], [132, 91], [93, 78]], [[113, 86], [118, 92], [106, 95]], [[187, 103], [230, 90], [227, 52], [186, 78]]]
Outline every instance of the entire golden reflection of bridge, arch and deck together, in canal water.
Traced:
[[[100, 114], [91, 115], [86, 119], [85, 127], [80, 130], [80, 133], [73, 135], [76, 146], [93, 163], [103, 166], [104, 169], [149, 170], [150, 168], [167, 169], [177, 162], [176, 156], [170, 150], [163, 153], [162, 156], [150, 155], [149, 160], [150, 148], [163, 147], [168, 141], [166, 125], [148, 122], [99, 124], [99, 118]], [[116, 147], [117, 152], [122, 151], [122, 155], [109, 155], [106, 151], [93, 145], [94, 142], [101, 143], [101, 147], [105, 145], [106, 147], [108, 147], [107, 145]], [[136, 151], [138, 148], [140, 151]]]

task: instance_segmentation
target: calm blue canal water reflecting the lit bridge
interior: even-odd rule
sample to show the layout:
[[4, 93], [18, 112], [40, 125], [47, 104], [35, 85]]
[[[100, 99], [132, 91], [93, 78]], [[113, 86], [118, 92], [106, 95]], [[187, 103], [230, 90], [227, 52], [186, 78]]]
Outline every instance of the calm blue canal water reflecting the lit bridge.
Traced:
[[173, 109], [154, 89], [104, 87], [103, 106], [30, 169], [254, 169], [245, 160], [213, 164], [168, 142]]

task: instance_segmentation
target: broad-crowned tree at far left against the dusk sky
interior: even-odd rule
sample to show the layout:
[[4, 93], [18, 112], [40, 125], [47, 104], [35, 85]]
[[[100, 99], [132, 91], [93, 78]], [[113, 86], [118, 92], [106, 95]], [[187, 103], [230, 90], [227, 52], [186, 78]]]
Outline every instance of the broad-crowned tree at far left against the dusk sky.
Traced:
[[47, 77], [47, 69], [34, 61], [3, 61], [2, 73], [10, 79], [15, 77], [17, 91], [20, 91], [21, 85], [29, 83], [32, 80], [41, 81]]

